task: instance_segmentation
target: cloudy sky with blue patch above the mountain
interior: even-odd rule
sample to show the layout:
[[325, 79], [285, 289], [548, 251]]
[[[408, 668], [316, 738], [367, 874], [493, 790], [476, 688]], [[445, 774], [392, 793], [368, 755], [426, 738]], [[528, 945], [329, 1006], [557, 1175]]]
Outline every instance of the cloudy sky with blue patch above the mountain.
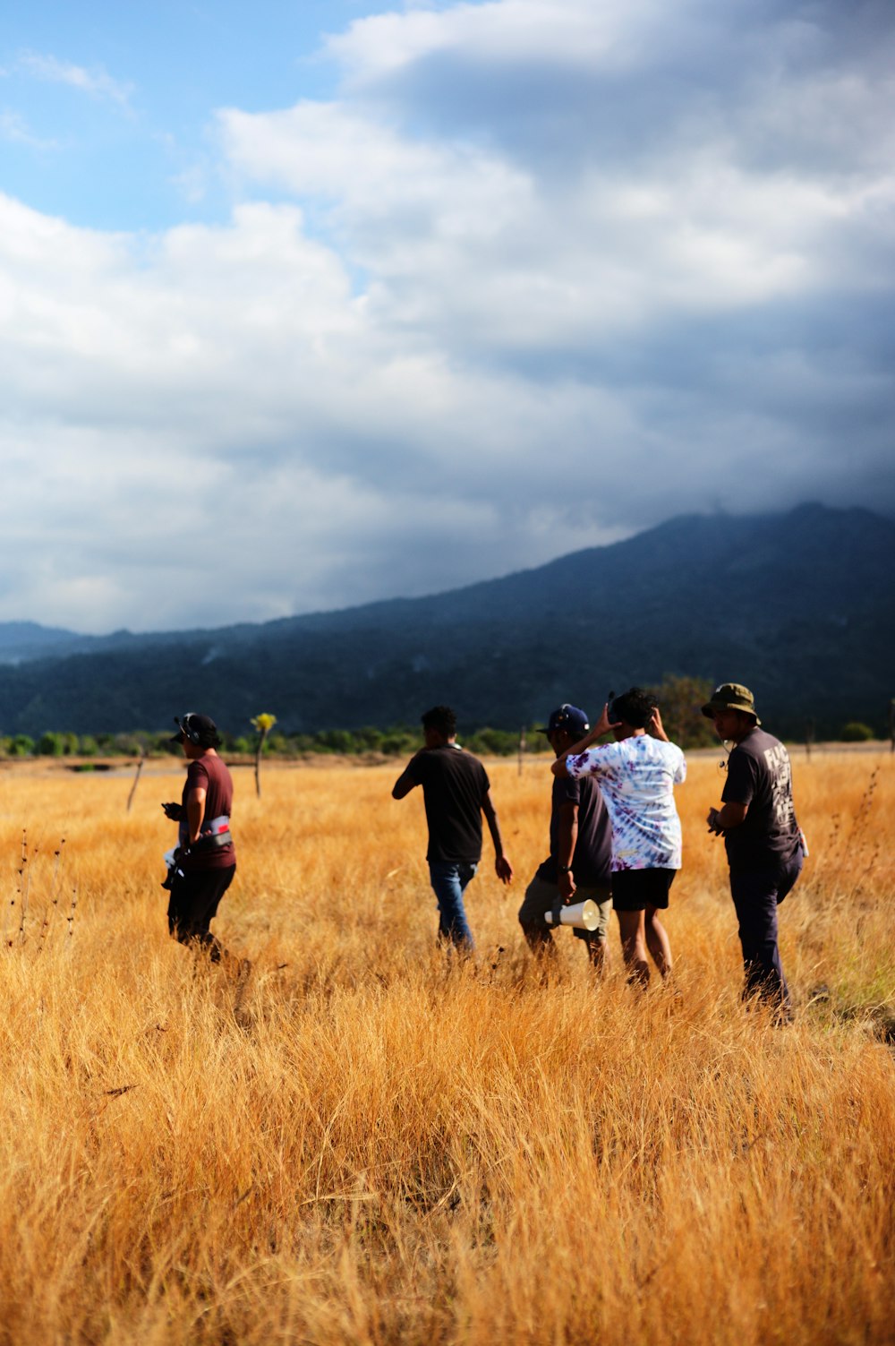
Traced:
[[261, 622], [895, 513], [890, 0], [30, 0], [0, 621]]

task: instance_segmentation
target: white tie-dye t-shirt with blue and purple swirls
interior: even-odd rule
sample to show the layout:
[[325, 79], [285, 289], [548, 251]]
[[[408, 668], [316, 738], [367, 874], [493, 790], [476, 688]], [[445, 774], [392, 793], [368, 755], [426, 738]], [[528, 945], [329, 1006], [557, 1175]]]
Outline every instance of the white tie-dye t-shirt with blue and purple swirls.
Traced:
[[674, 786], [686, 760], [674, 743], [637, 734], [565, 759], [575, 779], [595, 775], [612, 822], [612, 874], [618, 870], [680, 870], [681, 820]]

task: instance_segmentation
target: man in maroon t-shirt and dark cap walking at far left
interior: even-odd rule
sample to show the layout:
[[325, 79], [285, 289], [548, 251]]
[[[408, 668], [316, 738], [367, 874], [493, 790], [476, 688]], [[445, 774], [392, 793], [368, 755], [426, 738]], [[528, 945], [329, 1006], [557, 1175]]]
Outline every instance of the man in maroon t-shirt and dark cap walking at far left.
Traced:
[[[188, 767], [180, 804], [162, 805], [164, 816], [178, 824], [178, 845], [164, 883], [171, 894], [168, 931], [221, 962], [227, 953], [209, 926], [236, 874], [233, 779], [218, 756], [221, 738], [213, 719], [191, 711], [183, 719], [175, 716], [174, 723], [178, 732], [171, 743], [182, 746]], [[248, 970], [248, 960], [240, 969]]]

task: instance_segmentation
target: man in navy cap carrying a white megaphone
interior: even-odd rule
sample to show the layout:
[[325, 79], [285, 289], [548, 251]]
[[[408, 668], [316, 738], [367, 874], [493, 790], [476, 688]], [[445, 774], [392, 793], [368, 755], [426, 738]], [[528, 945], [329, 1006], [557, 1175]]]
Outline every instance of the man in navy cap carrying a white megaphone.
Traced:
[[[559, 758], [568, 752], [589, 728], [588, 717], [576, 705], [565, 703], [550, 715], [540, 734]], [[553, 949], [553, 934], [546, 913], [557, 902], [585, 902], [599, 910], [596, 930], [577, 930], [598, 973], [606, 965], [606, 935], [612, 910], [610, 863], [612, 826], [599, 786], [592, 777], [581, 781], [553, 779], [550, 806], [550, 853], [525, 890], [520, 907], [520, 925], [529, 948], [536, 953]]]

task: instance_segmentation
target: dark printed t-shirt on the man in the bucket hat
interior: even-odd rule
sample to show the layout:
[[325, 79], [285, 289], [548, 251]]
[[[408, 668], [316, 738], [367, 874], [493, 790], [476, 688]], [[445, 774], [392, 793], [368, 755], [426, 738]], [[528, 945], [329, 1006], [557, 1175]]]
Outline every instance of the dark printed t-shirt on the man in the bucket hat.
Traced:
[[773, 870], [791, 860], [801, 845], [793, 806], [793, 769], [779, 739], [752, 730], [727, 763], [724, 804], [747, 804], [748, 813], [724, 833], [727, 859], [739, 874]]

